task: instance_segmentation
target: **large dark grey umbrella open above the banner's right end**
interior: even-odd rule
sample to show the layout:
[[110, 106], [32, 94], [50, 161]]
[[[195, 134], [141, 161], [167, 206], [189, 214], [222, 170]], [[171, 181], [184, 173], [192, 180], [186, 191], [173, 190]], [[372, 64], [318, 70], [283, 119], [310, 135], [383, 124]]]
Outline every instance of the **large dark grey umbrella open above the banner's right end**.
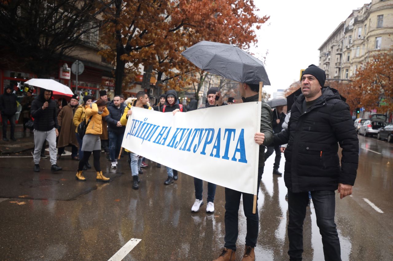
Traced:
[[263, 63], [230, 44], [201, 41], [182, 55], [200, 69], [241, 83], [270, 85]]

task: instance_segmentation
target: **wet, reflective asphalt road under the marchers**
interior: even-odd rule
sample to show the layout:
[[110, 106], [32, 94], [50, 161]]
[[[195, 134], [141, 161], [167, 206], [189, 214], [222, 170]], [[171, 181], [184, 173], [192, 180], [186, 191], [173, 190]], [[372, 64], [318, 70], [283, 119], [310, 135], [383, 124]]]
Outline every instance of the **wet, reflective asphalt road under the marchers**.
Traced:
[[[353, 196], [336, 197], [336, 224], [342, 260], [393, 260], [393, 144], [359, 136], [359, 168]], [[67, 150], [67, 148], [66, 148]], [[75, 181], [77, 161], [63, 156], [52, 174], [49, 158], [35, 173], [30, 152], [0, 156], [0, 260], [108, 260], [130, 239], [141, 241], [123, 260], [213, 260], [224, 244], [224, 188], [217, 187], [215, 213], [191, 213], [193, 178], [180, 173], [163, 185], [165, 167], [149, 167], [141, 188], [131, 188], [126, 158], [116, 170], [101, 154], [101, 167], [112, 180]], [[280, 171], [283, 172], [284, 157]], [[260, 227], [257, 260], [288, 260], [288, 206], [282, 177], [267, 161], [259, 190]], [[92, 162], [90, 162], [92, 163]], [[373, 208], [371, 205], [375, 205]], [[380, 213], [380, 212], [383, 213]], [[239, 211], [237, 260], [244, 247], [246, 220]], [[303, 260], [323, 260], [314, 207], [304, 223]]]

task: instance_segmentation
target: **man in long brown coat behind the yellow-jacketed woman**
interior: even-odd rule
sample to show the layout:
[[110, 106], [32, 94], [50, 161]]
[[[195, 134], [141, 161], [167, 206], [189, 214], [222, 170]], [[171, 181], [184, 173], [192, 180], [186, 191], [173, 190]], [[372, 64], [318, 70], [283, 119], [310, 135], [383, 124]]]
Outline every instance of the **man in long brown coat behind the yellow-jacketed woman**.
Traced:
[[57, 140], [57, 159], [61, 158], [64, 147], [71, 146], [71, 159], [78, 158], [78, 140], [75, 137], [75, 125], [73, 124], [73, 116], [78, 107], [79, 96], [74, 94], [70, 103], [62, 107], [57, 115], [57, 123], [59, 124], [59, 139]]

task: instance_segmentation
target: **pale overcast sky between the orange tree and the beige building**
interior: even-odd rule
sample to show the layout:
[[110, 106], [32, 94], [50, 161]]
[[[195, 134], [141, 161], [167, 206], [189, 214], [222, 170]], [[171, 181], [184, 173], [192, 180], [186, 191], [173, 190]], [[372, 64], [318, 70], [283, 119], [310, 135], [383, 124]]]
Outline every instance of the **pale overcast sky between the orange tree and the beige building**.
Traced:
[[371, 0], [254, 0], [260, 16], [270, 19], [257, 31], [257, 47], [250, 48], [255, 57], [266, 55], [265, 69], [272, 94], [299, 80], [300, 69], [318, 66], [318, 48], [352, 10]]

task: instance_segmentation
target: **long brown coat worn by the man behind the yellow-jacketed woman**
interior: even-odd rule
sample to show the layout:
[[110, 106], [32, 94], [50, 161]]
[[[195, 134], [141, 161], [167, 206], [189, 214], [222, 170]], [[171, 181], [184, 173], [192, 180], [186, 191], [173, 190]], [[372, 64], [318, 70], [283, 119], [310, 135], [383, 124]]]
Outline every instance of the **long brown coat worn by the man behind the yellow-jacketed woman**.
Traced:
[[59, 115], [57, 115], [57, 121], [59, 126], [61, 126], [61, 130], [59, 133], [59, 141], [57, 141], [57, 147], [65, 147], [68, 145], [75, 145], [77, 148], [78, 140], [75, 136], [75, 125], [73, 124], [73, 116], [76, 111], [76, 107], [72, 108], [70, 103], [67, 106], [64, 106]]

